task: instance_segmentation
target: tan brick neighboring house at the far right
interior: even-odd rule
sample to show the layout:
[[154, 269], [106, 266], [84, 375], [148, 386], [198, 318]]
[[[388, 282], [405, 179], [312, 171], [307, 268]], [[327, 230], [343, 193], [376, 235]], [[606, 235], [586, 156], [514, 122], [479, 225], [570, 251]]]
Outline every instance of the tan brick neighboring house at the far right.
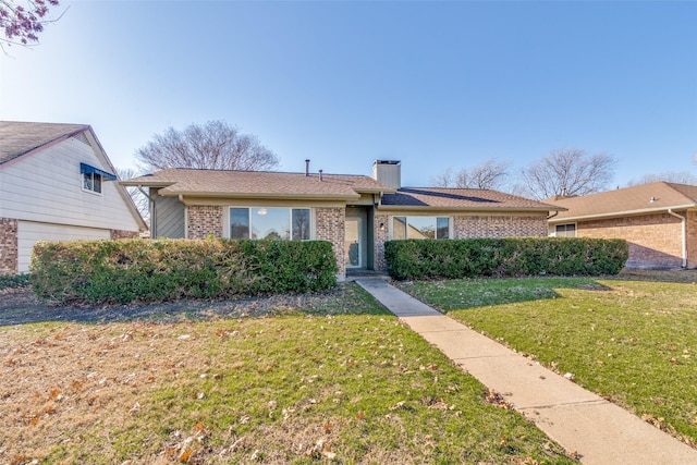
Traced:
[[550, 235], [624, 238], [627, 268], [697, 267], [697, 186], [656, 182], [545, 200], [563, 207]]

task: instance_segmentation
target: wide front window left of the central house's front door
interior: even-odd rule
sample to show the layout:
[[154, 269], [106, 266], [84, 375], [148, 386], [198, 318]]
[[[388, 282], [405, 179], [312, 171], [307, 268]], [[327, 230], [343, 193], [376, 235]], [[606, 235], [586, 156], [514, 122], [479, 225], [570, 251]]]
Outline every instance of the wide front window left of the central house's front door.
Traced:
[[231, 208], [231, 238], [308, 241], [309, 208]]

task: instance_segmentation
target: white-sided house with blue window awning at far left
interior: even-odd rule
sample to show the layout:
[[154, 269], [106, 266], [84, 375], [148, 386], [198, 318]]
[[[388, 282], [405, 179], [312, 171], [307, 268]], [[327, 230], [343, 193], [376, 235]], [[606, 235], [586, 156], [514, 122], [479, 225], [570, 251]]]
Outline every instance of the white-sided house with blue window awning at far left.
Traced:
[[37, 241], [137, 236], [147, 225], [93, 129], [0, 122], [0, 274], [29, 270]]

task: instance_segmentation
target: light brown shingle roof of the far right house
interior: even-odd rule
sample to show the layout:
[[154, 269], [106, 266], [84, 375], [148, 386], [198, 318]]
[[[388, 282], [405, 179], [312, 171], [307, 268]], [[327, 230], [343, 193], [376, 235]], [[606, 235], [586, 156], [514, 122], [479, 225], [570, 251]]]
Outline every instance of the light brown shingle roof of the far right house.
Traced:
[[552, 222], [570, 219], [619, 217], [667, 211], [669, 208], [697, 207], [697, 186], [656, 182], [579, 197], [555, 197], [545, 200], [565, 207]]

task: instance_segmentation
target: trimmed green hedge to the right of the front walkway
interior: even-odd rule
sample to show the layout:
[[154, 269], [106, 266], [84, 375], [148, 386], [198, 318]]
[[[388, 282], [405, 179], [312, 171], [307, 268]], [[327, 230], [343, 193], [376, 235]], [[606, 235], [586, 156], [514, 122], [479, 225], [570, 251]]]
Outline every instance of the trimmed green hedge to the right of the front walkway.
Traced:
[[624, 240], [511, 237], [384, 243], [388, 271], [399, 280], [616, 274], [628, 256]]

